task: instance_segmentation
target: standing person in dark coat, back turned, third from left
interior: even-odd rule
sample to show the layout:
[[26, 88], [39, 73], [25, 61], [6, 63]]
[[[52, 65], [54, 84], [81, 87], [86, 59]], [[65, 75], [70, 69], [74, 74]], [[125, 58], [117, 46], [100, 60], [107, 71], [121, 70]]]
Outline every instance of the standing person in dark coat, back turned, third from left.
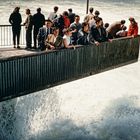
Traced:
[[43, 27], [45, 24], [45, 16], [41, 13], [41, 8], [37, 8], [37, 13], [33, 15], [33, 38], [34, 38], [34, 48], [37, 48], [37, 34], [39, 28]]

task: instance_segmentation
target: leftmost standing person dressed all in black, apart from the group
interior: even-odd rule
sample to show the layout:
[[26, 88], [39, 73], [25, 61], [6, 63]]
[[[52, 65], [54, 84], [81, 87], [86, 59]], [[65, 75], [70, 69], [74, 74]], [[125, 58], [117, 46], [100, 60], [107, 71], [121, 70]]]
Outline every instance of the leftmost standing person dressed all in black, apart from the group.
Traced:
[[20, 40], [20, 30], [21, 30], [21, 14], [19, 13], [20, 7], [16, 7], [13, 11], [13, 13], [9, 17], [9, 22], [12, 25], [12, 32], [13, 32], [13, 45], [14, 48], [16, 48], [16, 39], [17, 39], [17, 48], [20, 48], [19, 46], [19, 40]]

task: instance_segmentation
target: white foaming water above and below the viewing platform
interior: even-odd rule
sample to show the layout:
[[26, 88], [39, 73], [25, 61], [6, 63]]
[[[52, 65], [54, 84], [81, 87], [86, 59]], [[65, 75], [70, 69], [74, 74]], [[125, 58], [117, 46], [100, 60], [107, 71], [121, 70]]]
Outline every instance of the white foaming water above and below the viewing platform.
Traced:
[[[15, 6], [54, 5], [85, 14], [86, 0], [0, 1], [1, 24]], [[91, 0], [105, 22], [134, 16], [140, 1]], [[128, 22], [127, 22], [128, 24]], [[0, 103], [0, 140], [140, 140], [140, 62]]]

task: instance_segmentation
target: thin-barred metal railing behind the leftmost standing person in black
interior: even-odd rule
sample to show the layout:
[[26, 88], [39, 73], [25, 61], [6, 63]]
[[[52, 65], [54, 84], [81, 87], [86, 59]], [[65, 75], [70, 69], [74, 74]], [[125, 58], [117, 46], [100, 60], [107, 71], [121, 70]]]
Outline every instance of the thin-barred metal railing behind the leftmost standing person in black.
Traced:
[[[0, 25], [0, 47], [12, 46], [13, 35], [11, 25]], [[20, 45], [25, 45], [25, 26], [21, 25]]]

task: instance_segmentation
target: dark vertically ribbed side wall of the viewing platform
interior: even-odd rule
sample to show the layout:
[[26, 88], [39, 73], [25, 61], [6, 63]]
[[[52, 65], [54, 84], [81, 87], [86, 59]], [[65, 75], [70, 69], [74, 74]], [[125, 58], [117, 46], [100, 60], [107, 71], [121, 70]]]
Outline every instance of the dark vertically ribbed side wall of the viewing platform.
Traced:
[[135, 62], [139, 38], [0, 59], [0, 101]]

